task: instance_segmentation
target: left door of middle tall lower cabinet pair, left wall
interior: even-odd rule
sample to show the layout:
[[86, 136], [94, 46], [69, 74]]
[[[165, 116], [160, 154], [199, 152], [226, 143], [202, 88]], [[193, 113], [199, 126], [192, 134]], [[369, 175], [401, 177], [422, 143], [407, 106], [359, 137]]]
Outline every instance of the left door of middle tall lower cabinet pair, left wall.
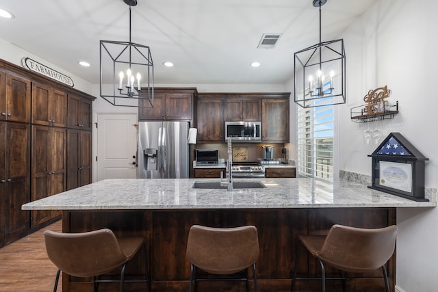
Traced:
[[[32, 126], [31, 200], [40, 200], [50, 194], [51, 127]], [[50, 210], [32, 210], [31, 226], [38, 228], [50, 220]]]

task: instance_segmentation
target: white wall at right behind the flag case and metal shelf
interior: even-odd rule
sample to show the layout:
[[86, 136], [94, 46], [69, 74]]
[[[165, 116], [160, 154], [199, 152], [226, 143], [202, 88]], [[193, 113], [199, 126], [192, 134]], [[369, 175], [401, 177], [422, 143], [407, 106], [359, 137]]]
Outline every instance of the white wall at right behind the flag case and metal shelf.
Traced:
[[[376, 145], [363, 144], [363, 131], [386, 137], [400, 132], [430, 161], [426, 187], [438, 186], [437, 81], [438, 1], [378, 0], [341, 36], [346, 41], [347, 103], [339, 106], [340, 169], [371, 175], [367, 157]], [[350, 121], [350, 108], [363, 104], [368, 90], [387, 85], [399, 101], [394, 120]], [[406, 292], [437, 291], [438, 209], [398, 209], [397, 286]]]

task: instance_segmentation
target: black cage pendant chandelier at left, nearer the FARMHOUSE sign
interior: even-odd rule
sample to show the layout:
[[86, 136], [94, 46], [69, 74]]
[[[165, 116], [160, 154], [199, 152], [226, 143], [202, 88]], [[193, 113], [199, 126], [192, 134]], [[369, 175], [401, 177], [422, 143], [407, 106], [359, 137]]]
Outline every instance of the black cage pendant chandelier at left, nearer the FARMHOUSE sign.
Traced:
[[129, 5], [129, 42], [100, 41], [101, 97], [115, 106], [153, 107], [153, 61], [151, 49], [131, 42], [131, 6]]

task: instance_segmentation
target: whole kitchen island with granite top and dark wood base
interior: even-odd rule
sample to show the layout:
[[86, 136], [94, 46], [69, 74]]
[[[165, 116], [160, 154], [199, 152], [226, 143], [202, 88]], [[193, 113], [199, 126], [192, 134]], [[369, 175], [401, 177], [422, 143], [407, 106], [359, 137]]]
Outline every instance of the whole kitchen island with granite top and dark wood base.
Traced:
[[[289, 291], [292, 283], [297, 236], [326, 234], [333, 224], [380, 228], [396, 224], [396, 209], [436, 207], [436, 194], [429, 202], [415, 202], [365, 185], [339, 180], [328, 183], [311, 178], [260, 178], [260, 189], [194, 189], [195, 181], [218, 179], [105, 180], [23, 205], [25, 210], [62, 210], [64, 232], [111, 228], [116, 235], [143, 235], [147, 239], [149, 272], [153, 291], [188, 291], [190, 263], [185, 243], [193, 224], [231, 227], [252, 224], [259, 230], [257, 262], [259, 291]], [[253, 181], [236, 179], [235, 181]], [[141, 255], [140, 255], [141, 256]], [[388, 264], [394, 289], [396, 261]], [[127, 274], [141, 274], [141, 261], [127, 267]], [[317, 276], [318, 263], [300, 254], [298, 274]], [[338, 275], [327, 269], [328, 276]], [[351, 275], [353, 291], [383, 288], [379, 272]], [[205, 291], [244, 291], [244, 283], [202, 282]], [[297, 291], [318, 290], [320, 282], [298, 281]], [[328, 281], [328, 287], [341, 287]], [[83, 291], [90, 279], [63, 276], [63, 291]], [[133, 289], [137, 287], [131, 286]], [[219, 289], [217, 287], [220, 287]], [[117, 291], [109, 285], [105, 291]], [[144, 289], [138, 284], [138, 289]]]

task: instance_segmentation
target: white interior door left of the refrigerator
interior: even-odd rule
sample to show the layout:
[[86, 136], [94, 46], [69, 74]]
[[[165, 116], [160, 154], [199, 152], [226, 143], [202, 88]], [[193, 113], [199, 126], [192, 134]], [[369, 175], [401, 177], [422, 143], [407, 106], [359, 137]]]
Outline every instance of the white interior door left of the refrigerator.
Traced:
[[99, 114], [97, 117], [97, 181], [137, 178], [136, 114]]

